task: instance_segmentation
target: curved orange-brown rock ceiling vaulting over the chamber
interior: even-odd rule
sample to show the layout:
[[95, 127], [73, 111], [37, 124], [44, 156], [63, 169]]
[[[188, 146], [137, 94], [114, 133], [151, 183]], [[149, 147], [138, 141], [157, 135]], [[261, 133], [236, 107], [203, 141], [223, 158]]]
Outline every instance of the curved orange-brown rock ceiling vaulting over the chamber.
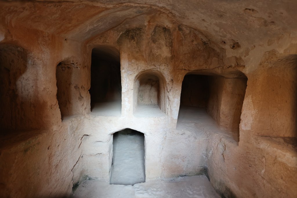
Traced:
[[80, 42], [118, 26], [160, 23], [193, 28], [227, 56], [297, 43], [295, 0], [36, 0], [0, 1], [0, 6], [0, 29], [26, 27]]

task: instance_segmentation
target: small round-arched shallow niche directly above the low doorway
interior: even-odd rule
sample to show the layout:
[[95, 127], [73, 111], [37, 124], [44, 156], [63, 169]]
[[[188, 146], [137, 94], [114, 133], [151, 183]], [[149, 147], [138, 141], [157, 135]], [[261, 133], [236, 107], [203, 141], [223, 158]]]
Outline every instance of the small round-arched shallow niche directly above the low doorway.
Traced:
[[162, 116], [165, 109], [165, 79], [157, 71], [141, 72], [135, 80], [134, 113], [136, 116]]

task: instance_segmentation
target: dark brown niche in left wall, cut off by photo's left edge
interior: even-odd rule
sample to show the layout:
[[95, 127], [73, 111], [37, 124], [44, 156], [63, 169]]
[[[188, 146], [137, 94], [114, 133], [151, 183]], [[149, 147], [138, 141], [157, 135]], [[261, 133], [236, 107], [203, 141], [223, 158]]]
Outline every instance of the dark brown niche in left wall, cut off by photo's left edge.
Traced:
[[27, 90], [28, 82], [23, 77], [26, 70], [27, 53], [23, 48], [13, 44], [0, 45], [0, 129], [28, 129], [34, 125], [28, 104], [30, 89]]

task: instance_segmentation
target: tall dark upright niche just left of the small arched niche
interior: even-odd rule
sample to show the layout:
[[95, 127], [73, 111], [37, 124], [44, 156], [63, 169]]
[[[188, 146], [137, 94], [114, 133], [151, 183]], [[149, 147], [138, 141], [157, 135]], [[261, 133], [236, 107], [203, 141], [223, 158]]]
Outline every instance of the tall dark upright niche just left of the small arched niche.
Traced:
[[99, 46], [91, 56], [91, 114], [121, 115], [121, 64], [119, 50]]

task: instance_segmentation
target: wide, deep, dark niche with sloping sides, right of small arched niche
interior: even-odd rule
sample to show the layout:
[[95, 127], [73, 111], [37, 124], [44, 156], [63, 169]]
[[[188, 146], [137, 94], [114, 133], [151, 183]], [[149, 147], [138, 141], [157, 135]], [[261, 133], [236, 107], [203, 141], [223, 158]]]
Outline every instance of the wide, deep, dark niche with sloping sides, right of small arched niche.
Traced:
[[221, 129], [232, 132], [238, 141], [246, 87], [246, 77], [186, 75], [181, 87], [177, 127], [189, 125], [189, 122], [211, 126], [216, 121]]

